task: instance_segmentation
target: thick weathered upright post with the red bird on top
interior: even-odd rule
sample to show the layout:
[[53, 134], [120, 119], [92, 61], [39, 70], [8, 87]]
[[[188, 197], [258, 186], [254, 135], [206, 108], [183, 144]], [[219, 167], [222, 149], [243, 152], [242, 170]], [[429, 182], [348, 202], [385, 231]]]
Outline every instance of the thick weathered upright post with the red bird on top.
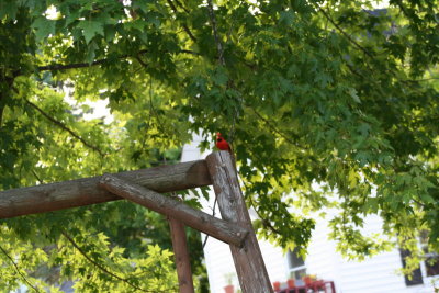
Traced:
[[243, 292], [273, 292], [230, 154], [215, 151], [207, 156], [206, 161], [223, 219], [250, 232], [241, 247], [230, 245]]

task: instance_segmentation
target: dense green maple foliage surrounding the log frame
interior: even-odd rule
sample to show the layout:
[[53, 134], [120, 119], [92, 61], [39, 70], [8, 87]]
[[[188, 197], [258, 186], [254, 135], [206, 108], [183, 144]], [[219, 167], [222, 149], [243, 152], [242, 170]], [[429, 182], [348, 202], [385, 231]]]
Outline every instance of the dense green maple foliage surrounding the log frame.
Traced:
[[[261, 236], [304, 250], [333, 209], [349, 257], [396, 236], [416, 255], [420, 230], [439, 249], [439, 2], [376, 2], [3, 0], [0, 189], [159, 165], [221, 131]], [[98, 100], [113, 121], [87, 120]], [[380, 238], [360, 233], [371, 214]], [[170, 290], [150, 223], [128, 203], [2, 221], [0, 288], [38, 286], [46, 266], [81, 292], [160, 273], [150, 289]]]

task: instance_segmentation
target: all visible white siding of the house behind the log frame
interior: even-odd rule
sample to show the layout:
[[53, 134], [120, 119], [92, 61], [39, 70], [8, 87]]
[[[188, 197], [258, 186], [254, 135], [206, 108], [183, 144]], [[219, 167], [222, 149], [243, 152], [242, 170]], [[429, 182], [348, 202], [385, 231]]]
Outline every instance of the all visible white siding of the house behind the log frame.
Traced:
[[[203, 159], [207, 154], [200, 154], [196, 147], [200, 137], [184, 146], [182, 161]], [[202, 202], [203, 210], [212, 213], [213, 192], [211, 202]], [[216, 207], [217, 210], [217, 207]], [[251, 211], [250, 211], [251, 214]], [[219, 217], [219, 212], [216, 211]], [[364, 225], [364, 232], [380, 232], [381, 221], [379, 217], [369, 217]], [[317, 219], [316, 229], [308, 247], [308, 256], [305, 260], [307, 273], [316, 274], [325, 280], [333, 280], [337, 293], [432, 293], [434, 289], [429, 281], [424, 279], [424, 285], [406, 286], [404, 278], [396, 273], [401, 268], [399, 252], [395, 249], [390, 252], [380, 253], [362, 262], [347, 261], [336, 251], [334, 241], [328, 240], [327, 221]], [[205, 235], [202, 235], [204, 239]], [[281, 249], [273, 247], [267, 241], [259, 241], [262, 257], [267, 266], [270, 280], [285, 281], [289, 275], [286, 258]], [[223, 293], [226, 275], [235, 273], [233, 280], [238, 285], [235, 266], [229, 247], [210, 237], [204, 248], [205, 264], [209, 274], [209, 283], [212, 293]], [[252, 293], [252, 292], [251, 292]], [[258, 292], [255, 292], [258, 293]]]

